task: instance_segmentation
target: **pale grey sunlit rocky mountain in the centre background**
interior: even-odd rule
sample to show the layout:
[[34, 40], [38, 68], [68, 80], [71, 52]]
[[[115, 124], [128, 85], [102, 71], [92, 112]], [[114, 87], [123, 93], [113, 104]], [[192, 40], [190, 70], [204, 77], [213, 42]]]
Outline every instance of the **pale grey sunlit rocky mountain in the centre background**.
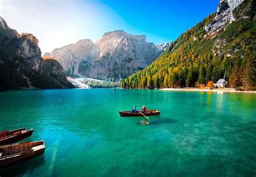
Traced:
[[69, 76], [125, 78], [156, 60], [168, 44], [159, 47], [147, 43], [146, 36], [113, 31], [105, 33], [95, 44], [88, 39], [79, 40], [45, 56], [54, 56]]

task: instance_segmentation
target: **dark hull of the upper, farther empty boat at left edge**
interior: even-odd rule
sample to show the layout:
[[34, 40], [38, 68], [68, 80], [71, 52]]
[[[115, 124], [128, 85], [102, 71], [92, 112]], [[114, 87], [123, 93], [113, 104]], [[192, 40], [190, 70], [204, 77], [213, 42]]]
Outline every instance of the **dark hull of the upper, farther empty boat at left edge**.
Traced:
[[[17, 134], [11, 134], [10, 136], [3, 137], [0, 139], [0, 146], [16, 143], [20, 140], [30, 137], [33, 133], [33, 129], [28, 130], [28, 131], [25, 131], [25, 129], [18, 129], [18, 130], [14, 130], [14, 131]], [[22, 132], [22, 131], [24, 131], [24, 132]], [[6, 130], [2, 131], [2, 132], [6, 132]], [[13, 132], [13, 131], [10, 131], [10, 132]], [[19, 132], [21, 132], [21, 133], [19, 133]], [[0, 132], [0, 134], [1, 134], [1, 132]]]

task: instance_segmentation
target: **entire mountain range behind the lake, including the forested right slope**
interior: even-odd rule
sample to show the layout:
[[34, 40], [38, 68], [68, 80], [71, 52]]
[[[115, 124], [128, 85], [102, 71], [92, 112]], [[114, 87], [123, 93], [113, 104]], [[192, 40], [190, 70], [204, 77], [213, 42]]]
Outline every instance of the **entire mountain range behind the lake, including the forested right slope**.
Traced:
[[0, 90], [73, 88], [66, 76], [124, 79], [123, 88], [198, 87], [225, 77], [232, 88], [253, 89], [255, 5], [220, 0], [217, 12], [166, 44], [112, 31], [96, 43], [79, 40], [43, 57], [35, 36], [18, 34], [0, 17]]

